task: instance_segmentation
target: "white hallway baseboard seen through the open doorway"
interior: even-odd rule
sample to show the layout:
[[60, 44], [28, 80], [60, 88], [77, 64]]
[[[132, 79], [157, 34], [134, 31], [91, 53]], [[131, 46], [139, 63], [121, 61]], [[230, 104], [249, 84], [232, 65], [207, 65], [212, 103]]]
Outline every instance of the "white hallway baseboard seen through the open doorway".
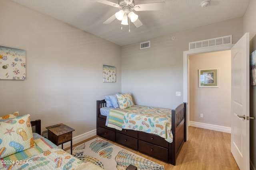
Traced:
[[214, 130], [214, 131], [231, 133], [231, 127], [211, 125], [211, 124], [200, 123], [200, 122], [195, 122], [195, 121], [190, 121], [189, 123], [190, 123], [190, 126], [194, 126], [194, 127], [200, 127], [200, 128], [210, 129], [210, 130]]

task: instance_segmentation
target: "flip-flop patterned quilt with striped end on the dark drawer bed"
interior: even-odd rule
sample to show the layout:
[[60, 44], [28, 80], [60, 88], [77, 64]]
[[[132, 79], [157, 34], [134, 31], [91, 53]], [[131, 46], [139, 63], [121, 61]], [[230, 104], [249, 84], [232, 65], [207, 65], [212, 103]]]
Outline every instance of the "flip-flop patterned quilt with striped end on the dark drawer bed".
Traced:
[[157, 107], [134, 106], [127, 109], [111, 109], [108, 127], [117, 130], [131, 129], [163, 137], [169, 143], [173, 141], [172, 110]]

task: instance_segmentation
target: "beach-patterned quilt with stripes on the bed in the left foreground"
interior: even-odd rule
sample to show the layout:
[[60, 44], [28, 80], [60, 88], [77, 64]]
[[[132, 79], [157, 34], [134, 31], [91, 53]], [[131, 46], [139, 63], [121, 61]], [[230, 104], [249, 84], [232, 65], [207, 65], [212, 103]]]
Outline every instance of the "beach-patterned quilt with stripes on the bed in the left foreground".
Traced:
[[36, 146], [22, 152], [1, 158], [0, 169], [33, 170], [33, 169], [76, 169], [84, 164], [68, 152], [60, 149], [46, 138], [35, 140]]

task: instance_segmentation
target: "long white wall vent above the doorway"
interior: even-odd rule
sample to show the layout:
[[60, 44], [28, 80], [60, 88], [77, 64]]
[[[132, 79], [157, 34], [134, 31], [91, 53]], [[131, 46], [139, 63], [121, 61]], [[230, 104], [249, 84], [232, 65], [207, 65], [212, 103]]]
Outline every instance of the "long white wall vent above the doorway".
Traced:
[[193, 50], [193, 49], [200, 49], [204, 47], [214, 47], [214, 46], [226, 45], [226, 44], [232, 45], [232, 35], [191, 42], [191, 43], [188, 43], [189, 45], [188, 48], [189, 50]]

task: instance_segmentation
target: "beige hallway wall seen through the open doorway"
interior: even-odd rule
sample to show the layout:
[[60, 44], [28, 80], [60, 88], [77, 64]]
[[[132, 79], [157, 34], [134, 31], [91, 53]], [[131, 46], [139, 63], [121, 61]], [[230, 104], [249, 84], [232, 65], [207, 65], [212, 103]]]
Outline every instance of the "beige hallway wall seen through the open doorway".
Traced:
[[[190, 55], [189, 64], [190, 121], [231, 127], [231, 52]], [[218, 69], [218, 88], [199, 88], [198, 70], [215, 68]]]

